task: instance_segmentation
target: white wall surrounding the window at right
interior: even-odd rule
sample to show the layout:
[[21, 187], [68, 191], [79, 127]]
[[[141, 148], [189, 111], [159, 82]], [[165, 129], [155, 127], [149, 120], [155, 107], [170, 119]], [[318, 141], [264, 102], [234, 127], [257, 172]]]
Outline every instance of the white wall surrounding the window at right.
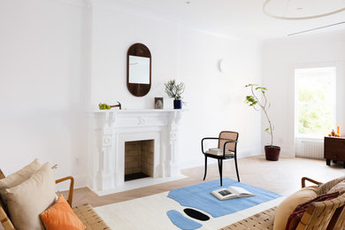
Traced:
[[[295, 68], [329, 64], [338, 67], [336, 122], [341, 126], [341, 134], [345, 134], [345, 31], [264, 42], [263, 85], [269, 89], [275, 144], [281, 146], [281, 155], [295, 156]], [[266, 126], [264, 118], [262, 124]], [[267, 134], [263, 134], [262, 142], [269, 142]]]

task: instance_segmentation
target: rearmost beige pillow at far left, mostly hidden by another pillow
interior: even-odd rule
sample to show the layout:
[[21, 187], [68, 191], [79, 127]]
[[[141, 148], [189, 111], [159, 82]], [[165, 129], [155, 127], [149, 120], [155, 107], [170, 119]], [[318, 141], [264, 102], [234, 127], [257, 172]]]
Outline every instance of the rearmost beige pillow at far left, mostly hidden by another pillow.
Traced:
[[4, 179], [0, 180], [0, 196], [4, 202], [4, 206], [7, 207], [6, 196], [4, 196], [6, 188], [12, 188], [18, 186], [25, 180], [29, 179], [32, 174], [34, 174], [38, 169], [41, 168], [41, 164], [36, 158], [32, 163], [20, 169], [16, 173], [12, 173]]

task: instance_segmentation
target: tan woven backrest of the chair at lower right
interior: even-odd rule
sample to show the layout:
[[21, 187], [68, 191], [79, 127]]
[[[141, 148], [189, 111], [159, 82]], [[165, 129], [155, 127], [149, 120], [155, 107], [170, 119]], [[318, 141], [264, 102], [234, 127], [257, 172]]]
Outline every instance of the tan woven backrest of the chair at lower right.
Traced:
[[332, 200], [311, 203], [296, 230], [345, 229], [345, 194]]

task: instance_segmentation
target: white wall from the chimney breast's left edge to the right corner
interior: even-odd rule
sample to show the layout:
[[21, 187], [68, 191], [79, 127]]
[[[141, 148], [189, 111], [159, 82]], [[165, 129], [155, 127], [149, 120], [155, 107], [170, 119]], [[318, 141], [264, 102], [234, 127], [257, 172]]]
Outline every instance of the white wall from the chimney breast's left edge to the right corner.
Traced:
[[[261, 80], [260, 43], [205, 34], [119, 5], [94, 5], [92, 15], [93, 108], [118, 100], [123, 108], [152, 109], [155, 96], [172, 108], [164, 83], [176, 79], [186, 84], [188, 109], [180, 124], [180, 167], [203, 165], [202, 138], [221, 130], [240, 133], [241, 157], [260, 154], [260, 114], [244, 103], [244, 86]], [[152, 56], [152, 87], [143, 97], [126, 88], [126, 51], [135, 42], [148, 46]], [[220, 58], [228, 73], [219, 73]]]

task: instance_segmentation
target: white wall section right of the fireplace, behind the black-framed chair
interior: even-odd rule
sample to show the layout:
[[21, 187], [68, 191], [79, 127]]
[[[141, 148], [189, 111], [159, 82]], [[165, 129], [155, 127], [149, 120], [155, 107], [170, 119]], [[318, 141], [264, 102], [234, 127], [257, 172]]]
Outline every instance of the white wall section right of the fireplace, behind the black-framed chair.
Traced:
[[[240, 157], [260, 154], [260, 114], [244, 103], [244, 86], [261, 80], [261, 46], [186, 28], [179, 28], [178, 41], [177, 79], [186, 83], [189, 110], [180, 126], [180, 165], [203, 165], [202, 138], [221, 130], [239, 132]], [[219, 73], [219, 58], [227, 73]]]

